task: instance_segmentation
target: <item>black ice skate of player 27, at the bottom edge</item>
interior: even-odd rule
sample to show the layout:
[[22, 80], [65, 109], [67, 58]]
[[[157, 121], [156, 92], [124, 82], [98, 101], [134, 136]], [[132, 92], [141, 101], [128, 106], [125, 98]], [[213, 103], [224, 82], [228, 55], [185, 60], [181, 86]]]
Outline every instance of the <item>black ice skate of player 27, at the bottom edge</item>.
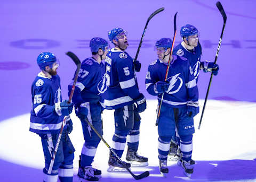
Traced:
[[[99, 177], [95, 176], [94, 174], [100, 174], [101, 171], [98, 169], [94, 169], [91, 166], [86, 167], [79, 167], [77, 176], [80, 178], [81, 181], [98, 181]], [[98, 176], [100, 176], [98, 175]]]

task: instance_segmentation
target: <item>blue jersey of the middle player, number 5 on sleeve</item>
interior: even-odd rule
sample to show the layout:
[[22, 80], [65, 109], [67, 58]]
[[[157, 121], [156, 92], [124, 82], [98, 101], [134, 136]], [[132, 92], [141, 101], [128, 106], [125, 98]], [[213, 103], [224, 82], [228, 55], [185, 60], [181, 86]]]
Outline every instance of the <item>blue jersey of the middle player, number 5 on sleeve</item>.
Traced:
[[101, 92], [102, 107], [117, 109], [133, 103], [140, 95], [133, 59], [126, 51], [112, 48], [105, 59], [106, 90]]

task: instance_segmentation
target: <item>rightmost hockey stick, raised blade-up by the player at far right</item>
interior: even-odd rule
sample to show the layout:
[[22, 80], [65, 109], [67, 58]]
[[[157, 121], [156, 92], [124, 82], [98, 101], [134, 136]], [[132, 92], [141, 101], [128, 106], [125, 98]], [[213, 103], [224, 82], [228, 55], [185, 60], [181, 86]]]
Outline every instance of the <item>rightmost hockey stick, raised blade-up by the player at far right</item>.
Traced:
[[[220, 51], [220, 45], [221, 45], [221, 41], [222, 41], [222, 36], [223, 36], [223, 31], [225, 29], [225, 25], [226, 25], [226, 21], [227, 21], [227, 15], [226, 15], [226, 13], [225, 13], [225, 11], [224, 11], [224, 9], [223, 9], [223, 7], [222, 7], [222, 5], [219, 1], [216, 3], [216, 6], [218, 7], [218, 9], [219, 9], [219, 11], [222, 15], [223, 27], [222, 27], [222, 31], [221, 31], [221, 35], [220, 35], [220, 40], [219, 40], [217, 52], [216, 52], [216, 55], [215, 55], [214, 64], [216, 64], [216, 62], [217, 62], [217, 58], [218, 58], [219, 51]], [[203, 115], [204, 115], [204, 109], [205, 109], [205, 106], [206, 106], [206, 101], [207, 101], [207, 98], [208, 98], [208, 94], [209, 94], [209, 90], [210, 90], [210, 86], [211, 86], [211, 82], [212, 82], [212, 75], [213, 75], [213, 73], [211, 74], [210, 82], [209, 82], [208, 89], [207, 89], [207, 92], [206, 92], [206, 96], [205, 96], [205, 100], [204, 100], [204, 107], [203, 107], [203, 111], [202, 111], [202, 115], [201, 115], [201, 118], [200, 118], [198, 129], [200, 129], [200, 127], [201, 127], [201, 123], [202, 123], [202, 119], [203, 119]]]

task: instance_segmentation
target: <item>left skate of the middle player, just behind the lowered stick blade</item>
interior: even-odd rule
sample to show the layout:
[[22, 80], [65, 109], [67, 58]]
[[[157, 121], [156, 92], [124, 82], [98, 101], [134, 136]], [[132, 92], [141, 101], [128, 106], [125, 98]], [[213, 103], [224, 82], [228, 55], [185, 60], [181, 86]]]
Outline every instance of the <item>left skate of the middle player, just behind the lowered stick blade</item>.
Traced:
[[127, 172], [125, 168], [130, 168], [131, 164], [124, 161], [119, 162], [115, 156], [110, 154], [109, 160], [108, 160], [108, 166], [109, 166], [109, 168], [107, 169], [108, 172]]

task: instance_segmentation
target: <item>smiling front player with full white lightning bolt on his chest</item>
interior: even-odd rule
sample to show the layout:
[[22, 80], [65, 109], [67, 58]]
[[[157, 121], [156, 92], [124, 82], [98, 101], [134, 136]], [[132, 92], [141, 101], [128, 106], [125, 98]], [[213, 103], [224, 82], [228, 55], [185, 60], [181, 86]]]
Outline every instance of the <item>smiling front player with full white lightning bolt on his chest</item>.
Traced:
[[185, 169], [185, 174], [189, 176], [193, 173], [193, 166], [189, 161], [195, 132], [193, 117], [199, 112], [198, 89], [188, 59], [182, 56], [171, 58], [167, 80], [164, 81], [171, 46], [172, 40], [169, 38], [156, 41], [158, 59], [148, 66], [146, 89], [149, 94], [157, 96], [158, 103], [164, 93], [158, 123], [159, 170], [163, 175], [169, 172], [167, 154], [177, 127], [181, 140], [181, 165]]

